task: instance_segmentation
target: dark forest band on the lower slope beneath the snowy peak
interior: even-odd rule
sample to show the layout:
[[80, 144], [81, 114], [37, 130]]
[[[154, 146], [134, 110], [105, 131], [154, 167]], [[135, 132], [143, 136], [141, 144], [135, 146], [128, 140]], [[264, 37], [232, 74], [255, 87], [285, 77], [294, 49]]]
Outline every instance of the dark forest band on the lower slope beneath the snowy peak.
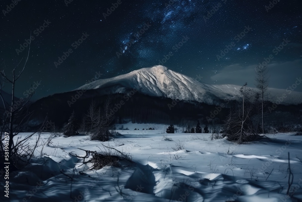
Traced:
[[[108, 97], [108, 95], [98, 93], [97, 89], [88, 90], [69, 107], [67, 101], [70, 100], [72, 95], [73, 92], [54, 94], [33, 103], [30, 106], [30, 111], [33, 111], [33, 114], [31, 116], [31, 124], [28, 125], [28, 130], [33, 130], [34, 127], [41, 123], [46, 114], [48, 120], [56, 121], [56, 127], [62, 128], [73, 110], [75, 111], [76, 118], [82, 119], [92, 100], [95, 100], [97, 105], [103, 105]], [[115, 104], [123, 100], [123, 96], [124, 94], [110, 95], [113, 108]], [[171, 103], [172, 99], [169, 98], [150, 97], [137, 92], [112, 114], [114, 114], [114, 121], [117, 124], [123, 124], [125, 120], [133, 123], [181, 124], [187, 120], [197, 119], [205, 124], [207, 114], [215, 110], [214, 105], [184, 101], [178, 102], [170, 110], [168, 104]], [[215, 121], [222, 123], [223, 118], [227, 115], [227, 111], [227, 108], [223, 109], [216, 116]]]

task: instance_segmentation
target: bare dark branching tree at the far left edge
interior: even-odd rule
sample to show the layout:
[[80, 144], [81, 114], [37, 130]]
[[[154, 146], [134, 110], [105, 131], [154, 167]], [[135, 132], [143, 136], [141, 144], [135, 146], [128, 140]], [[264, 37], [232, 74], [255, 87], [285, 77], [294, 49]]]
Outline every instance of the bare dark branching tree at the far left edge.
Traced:
[[[16, 74], [16, 71], [21, 65], [21, 61], [16, 65], [12, 71], [12, 78], [8, 78], [9, 76], [5, 74], [5, 64], [3, 63], [3, 68], [0, 69], [0, 98], [4, 107], [4, 114], [2, 118], [2, 127], [1, 127], [1, 134], [0, 134], [0, 157], [1, 160], [4, 159], [10, 162], [12, 166], [15, 168], [21, 168], [20, 161], [23, 162], [22, 165], [26, 165], [28, 161], [33, 156], [34, 150], [37, 147], [37, 142], [40, 138], [40, 133], [38, 136], [38, 140], [34, 146], [33, 149], [30, 148], [31, 145], [29, 145], [28, 140], [35, 134], [37, 131], [41, 131], [41, 129], [44, 127], [45, 122], [47, 118], [43, 121], [43, 124], [41, 127], [35, 131], [32, 134], [29, 134], [25, 136], [24, 138], [18, 137], [18, 139], [14, 142], [14, 137], [16, 137], [26, 126], [29, 118], [31, 117], [33, 112], [28, 111], [29, 106], [29, 100], [32, 97], [32, 95], [35, 93], [35, 90], [33, 92], [30, 92], [28, 97], [21, 101], [15, 102], [15, 88], [16, 88], [16, 81], [20, 78], [21, 74], [23, 73], [26, 63], [28, 61], [30, 52], [30, 44], [28, 45], [27, 50], [27, 57], [25, 59], [23, 68], [21, 71], [19, 71], [18, 74]], [[11, 90], [11, 101], [8, 103], [2, 93], [2, 89], [4, 87], [4, 84], [8, 83], [11, 84], [12, 90]], [[37, 84], [37, 86], [40, 85]], [[7, 138], [8, 137], [8, 138]], [[8, 141], [8, 143], [7, 143]], [[8, 153], [7, 153], [8, 152]]]

